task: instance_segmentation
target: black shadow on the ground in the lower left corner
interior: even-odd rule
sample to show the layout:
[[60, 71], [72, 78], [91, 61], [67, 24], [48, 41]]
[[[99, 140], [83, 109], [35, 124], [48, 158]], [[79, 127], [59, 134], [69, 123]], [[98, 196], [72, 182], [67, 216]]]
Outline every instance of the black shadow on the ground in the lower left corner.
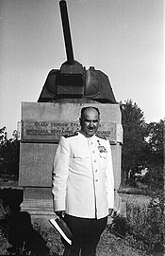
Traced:
[[[8, 213], [8, 234], [7, 239], [12, 247], [8, 248], [11, 255], [19, 255], [20, 250], [31, 251], [35, 256], [49, 255], [49, 248], [41, 237], [41, 234], [33, 229], [30, 214], [20, 211], [20, 204], [23, 201], [23, 191], [13, 189], [0, 190], [0, 198], [4, 207], [9, 208]], [[29, 254], [28, 254], [29, 255]]]

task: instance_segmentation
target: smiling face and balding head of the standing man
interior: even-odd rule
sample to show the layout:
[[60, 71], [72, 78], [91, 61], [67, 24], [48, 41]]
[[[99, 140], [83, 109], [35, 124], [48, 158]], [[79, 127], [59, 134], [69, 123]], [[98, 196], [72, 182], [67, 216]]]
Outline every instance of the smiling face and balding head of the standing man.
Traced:
[[93, 136], [99, 126], [99, 114], [94, 108], [88, 108], [80, 118], [81, 131], [86, 137]]

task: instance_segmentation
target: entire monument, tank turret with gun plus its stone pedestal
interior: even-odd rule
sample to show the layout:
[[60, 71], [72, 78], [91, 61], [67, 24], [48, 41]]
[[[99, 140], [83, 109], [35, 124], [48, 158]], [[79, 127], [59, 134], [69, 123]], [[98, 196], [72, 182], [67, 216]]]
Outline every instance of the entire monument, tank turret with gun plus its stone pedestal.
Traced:
[[21, 210], [31, 215], [52, 215], [52, 164], [62, 134], [80, 129], [80, 110], [96, 106], [101, 112], [99, 134], [111, 144], [115, 197], [121, 183], [123, 129], [120, 105], [107, 75], [74, 61], [68, 12], [59, 2], [67, 62], [49, 72], [38, 102], [22, 102], [19, 186], [24, 188]]

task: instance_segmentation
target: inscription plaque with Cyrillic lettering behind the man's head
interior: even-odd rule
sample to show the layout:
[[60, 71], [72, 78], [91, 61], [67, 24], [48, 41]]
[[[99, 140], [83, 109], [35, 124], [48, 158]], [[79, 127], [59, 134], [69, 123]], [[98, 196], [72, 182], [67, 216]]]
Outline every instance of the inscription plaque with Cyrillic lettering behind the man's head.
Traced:
[[[116, 122], [101, 122], [97, 134], [106, 136], [110, 142], [116, 143], [116, 126]], [[72, 135], [79, 130], [79, 121], [22, 120], [22, 141], [54, 143], [58, 142], [62, 135]]]

